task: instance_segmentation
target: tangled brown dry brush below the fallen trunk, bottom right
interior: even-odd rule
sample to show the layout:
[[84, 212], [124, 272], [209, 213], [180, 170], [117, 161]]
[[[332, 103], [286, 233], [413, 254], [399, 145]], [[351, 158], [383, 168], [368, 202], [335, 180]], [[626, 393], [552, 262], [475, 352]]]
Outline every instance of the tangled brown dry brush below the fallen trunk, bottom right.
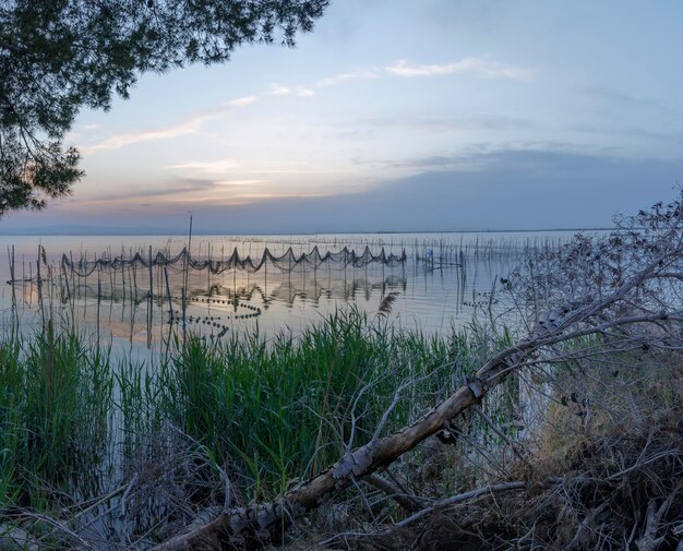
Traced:
[[[348, 549], [675, 550], [683, 540], [680, 357], [640, 357], [616, 375], [598, 368], [553, 381], [556, 402], [529, 435], [534, 453], [510, 466], [529, 481], [526, 491], [438, 511], [409, 530], [356, 538]], [[580, 399], [563, 400], [579, 382]], [[579, 406], [589, 414], [578, 415]]]

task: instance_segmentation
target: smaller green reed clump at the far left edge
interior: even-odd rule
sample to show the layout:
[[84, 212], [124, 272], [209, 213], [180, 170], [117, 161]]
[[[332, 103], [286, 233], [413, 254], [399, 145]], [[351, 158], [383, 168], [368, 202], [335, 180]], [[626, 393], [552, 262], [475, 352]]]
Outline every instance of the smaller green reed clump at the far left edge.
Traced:
[[55, 335], [51, 323], [0, 344], [0, 504], [87, 488], [107, 444], [110, 373], [106, 350]]

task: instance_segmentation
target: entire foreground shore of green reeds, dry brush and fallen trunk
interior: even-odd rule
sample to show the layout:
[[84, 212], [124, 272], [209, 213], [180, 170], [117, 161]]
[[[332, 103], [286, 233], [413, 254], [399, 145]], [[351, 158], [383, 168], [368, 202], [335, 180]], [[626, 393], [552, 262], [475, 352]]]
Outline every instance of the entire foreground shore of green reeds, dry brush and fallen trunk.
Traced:
[[348, 309], [157, 366], [8, 337], [0, 549], [683, 549], [682, 282], [679, 197], [438, 336]]

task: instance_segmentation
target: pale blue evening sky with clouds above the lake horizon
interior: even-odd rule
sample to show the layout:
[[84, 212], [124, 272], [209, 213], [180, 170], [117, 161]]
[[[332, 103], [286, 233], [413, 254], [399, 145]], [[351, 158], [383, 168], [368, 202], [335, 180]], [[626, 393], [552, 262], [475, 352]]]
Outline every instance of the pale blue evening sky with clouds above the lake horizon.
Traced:
[[296, 48], [142, 75], [0, 232], [608, 227], [679, 193], [683, 3], [332, 0]]

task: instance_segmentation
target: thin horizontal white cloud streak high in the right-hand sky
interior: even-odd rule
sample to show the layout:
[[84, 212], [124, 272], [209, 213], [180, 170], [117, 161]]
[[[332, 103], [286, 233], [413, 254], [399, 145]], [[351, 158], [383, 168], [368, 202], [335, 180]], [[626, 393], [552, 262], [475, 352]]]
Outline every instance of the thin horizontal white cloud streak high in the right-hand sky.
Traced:
[[384, 70], [395, 76], [409, 79], [467, 72], [478, 72], [489, 76], [499, 76], [516, 81], [530, 81], [535, 76], [535, 71], [531, 69], [499, 63], [496, 61], [490, 61], [487, 58], [465, 58], [451, 63], [432, 63], [426, 65], [415, 65], [406, 60], [399, 60], [385, 67]]

